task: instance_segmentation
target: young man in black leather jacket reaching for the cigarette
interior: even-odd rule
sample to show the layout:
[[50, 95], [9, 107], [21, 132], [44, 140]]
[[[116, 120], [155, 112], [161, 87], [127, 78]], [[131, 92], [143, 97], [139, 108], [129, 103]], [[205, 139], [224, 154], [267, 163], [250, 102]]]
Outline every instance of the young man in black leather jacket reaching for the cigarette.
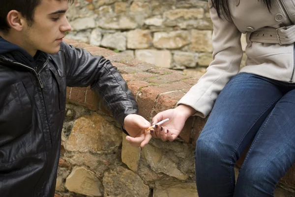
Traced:
[[62, 42], [73, 0], [0, 0], [0, 197], [53, 197], [66, 86], [98, 92], [133, 145], [150, 124], [102, 56]]

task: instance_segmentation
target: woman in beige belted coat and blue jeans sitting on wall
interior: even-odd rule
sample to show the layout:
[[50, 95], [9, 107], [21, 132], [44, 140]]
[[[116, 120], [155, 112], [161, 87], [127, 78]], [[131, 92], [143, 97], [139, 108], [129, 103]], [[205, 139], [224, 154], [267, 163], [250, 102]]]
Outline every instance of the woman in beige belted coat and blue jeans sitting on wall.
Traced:
[[[209, 4], [213, 61], [177, 108], [153, 118], [170, 121], [152, 136], [173, 141], [189, 116], [211, 111], [196, 143], [199, 197], [273, 197], [295, 162], [295, 0]], [[241, 33], [247, 61], [239, 70]], [[235, 183], [235, 163], [249, 143]]]

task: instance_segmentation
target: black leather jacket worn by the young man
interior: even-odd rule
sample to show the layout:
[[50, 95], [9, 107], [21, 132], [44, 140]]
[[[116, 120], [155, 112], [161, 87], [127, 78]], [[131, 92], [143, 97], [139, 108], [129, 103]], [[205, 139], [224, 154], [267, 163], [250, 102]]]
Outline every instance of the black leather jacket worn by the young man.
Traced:
[[58, 54], [36, 56], [0, 55], [0, 197], [54, 197], [66, 86], [91, 85], [120, 125], [138, 113], [125, 81], [104, 57], [65, 43]]

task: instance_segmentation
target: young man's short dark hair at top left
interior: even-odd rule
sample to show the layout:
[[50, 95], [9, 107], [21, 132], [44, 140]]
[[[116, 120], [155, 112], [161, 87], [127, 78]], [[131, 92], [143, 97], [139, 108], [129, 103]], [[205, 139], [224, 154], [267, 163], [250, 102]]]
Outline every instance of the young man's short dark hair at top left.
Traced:
[[[29, 22], [34, 21], [35, 8], [41, 3], [42, 0], [0, 0], [0, 31], [7, 33], [9, 25], [6, 17], [11, 10], [17, 10], [22, 13]], [[67, 0], [73, 3], [74, 0]]]

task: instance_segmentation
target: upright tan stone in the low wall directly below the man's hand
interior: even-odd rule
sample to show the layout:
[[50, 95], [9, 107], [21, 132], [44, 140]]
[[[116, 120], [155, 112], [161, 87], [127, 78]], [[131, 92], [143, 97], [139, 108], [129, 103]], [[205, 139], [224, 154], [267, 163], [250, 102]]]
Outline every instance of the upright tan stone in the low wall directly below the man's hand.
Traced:
[[140, 160], [140, 147], [133, 147], [125, 140], [126, 134], [122, 134], [122, 162], [128, 166], [129, 169], [137, 171], [137, 167]]

